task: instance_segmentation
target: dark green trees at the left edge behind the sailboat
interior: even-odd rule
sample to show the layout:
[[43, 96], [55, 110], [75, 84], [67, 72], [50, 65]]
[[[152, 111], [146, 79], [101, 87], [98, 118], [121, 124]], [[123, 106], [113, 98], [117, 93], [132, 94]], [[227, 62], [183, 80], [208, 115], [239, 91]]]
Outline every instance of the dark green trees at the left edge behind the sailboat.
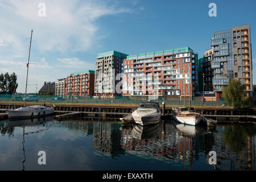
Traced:
[[16, 92], [18, 88], [17, 76], [15, 73], [9, 75], [9, 73], [3, 73], [0, 75], [0, 94], [5, 94], [8, 91], [9, 94]]

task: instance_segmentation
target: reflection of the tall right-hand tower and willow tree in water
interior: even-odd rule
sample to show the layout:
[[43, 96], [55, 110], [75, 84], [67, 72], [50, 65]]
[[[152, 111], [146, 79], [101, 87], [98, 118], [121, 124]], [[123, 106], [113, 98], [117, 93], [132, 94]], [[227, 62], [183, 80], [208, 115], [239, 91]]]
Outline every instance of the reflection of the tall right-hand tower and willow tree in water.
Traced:
[[255, 170], [253, 125], [219, 127], [212, 150], [217, 153], [218, 170]]

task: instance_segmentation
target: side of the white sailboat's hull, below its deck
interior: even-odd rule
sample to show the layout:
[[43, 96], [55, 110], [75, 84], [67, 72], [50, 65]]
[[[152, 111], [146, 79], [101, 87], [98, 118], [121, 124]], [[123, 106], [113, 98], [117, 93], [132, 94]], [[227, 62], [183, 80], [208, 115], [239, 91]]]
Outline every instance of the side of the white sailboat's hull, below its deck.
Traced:
[[44, 111], [18, 111], [9, 110], [9, 119], [25, 119], [25, 118], [40, 118], [46, 117], [47, 115], [52, 115], [54, 110], [44, 110]]

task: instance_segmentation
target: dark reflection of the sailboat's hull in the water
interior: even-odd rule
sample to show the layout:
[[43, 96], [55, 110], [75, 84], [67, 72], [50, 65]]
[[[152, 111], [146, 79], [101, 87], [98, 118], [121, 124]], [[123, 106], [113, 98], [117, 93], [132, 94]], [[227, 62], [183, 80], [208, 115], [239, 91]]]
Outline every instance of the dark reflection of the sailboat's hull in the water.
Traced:
[[8, 127], [23, 127], [38, 125], [44, 122], [53, 121], [53, 116], [43, 117], [43, 118], [31, 118], [31, 119], [13, 119], [8, 122]]

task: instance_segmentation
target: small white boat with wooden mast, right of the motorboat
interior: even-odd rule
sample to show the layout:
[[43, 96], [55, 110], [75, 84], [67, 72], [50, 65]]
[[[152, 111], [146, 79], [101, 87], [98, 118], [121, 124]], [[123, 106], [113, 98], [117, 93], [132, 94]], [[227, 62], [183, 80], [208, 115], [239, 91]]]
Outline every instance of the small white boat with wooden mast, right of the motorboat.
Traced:
[[173, 107], [174, 119], [186, 125], [197, 125], [201, 121], [201, 115], [190, 111], [188, 107]]

